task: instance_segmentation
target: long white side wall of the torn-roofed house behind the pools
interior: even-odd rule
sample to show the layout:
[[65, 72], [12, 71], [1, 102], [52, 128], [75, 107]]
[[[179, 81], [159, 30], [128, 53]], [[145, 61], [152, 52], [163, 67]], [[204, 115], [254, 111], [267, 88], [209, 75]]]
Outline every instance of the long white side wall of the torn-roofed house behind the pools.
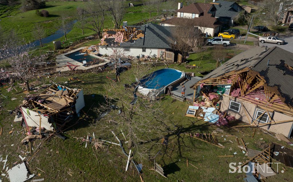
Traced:
[[100, 54], [107, 54], [107, 55], [111, 55], [113, 54], [113, 49], [121, 49], [123, 54], [125, 55], [129, 55], [129, 56], [139, 56], [139, 54], [143, 54], [143, 55], [148, 55], [148, 56], [152, 56], [154, 54], [156, 54], [156, 56], [158, 56], [158, 49], [157, 48], [146, 48], [145, 52], [142, 52], [142, 47], [130, 47], [130, 51], [124, 51], [123, 47], [122, 48], [111, 48], [111, 47], [103, 47], [103, 46], [99, 46], [99, 51]]

